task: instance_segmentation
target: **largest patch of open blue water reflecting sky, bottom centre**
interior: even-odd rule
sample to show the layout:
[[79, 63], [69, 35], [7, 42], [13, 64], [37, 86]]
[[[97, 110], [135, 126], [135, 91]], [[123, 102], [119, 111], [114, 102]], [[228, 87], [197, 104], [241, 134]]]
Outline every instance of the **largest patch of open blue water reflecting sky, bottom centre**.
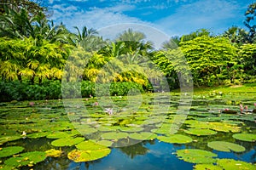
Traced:
[[[105, 158], [102, 158], [99, 163], [91, 163], [89, 169], [101, 169], [101, 170], [162, 170], [162, 169], [193, 169], [193, 164], [181, 161], [177, 159], [177, 156], [173, 154], [177, 149], [184, 149], [184, 147], [176, 147], [173, 144], [166, 144], [155, 140], [154, 144], [144, 142], [143, 147], [148, 151], [145, 155], [131, 156], [124, 154], [120, 148], [113, 148], [111, 154]], [[132, 146], [126, 147], [129, 149]], [[124, 149], [124, 148], [123, 148]], [[139, 152], [139, 150], [133, 150]], [[70, 169], [86, 169], [84, 163], [71, 163]]]

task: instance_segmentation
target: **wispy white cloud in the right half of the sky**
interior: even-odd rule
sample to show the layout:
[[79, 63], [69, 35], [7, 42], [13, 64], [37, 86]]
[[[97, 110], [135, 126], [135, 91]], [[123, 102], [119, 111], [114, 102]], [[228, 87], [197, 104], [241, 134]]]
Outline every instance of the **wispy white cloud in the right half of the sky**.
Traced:
[[227, 29], [226, 24], [228, 23], [225, 23], [227, 20], [234, 19], [234, 21], [238, 21], [237, 11], [239, 11], [239, 6], [234, 1], [197, 1], [177, 8], [175, 14], [160, 19], [155, 24], [161, 26], [166, 31], [175, 31], [177, 35], [201, 28], [207, 28], [210, 31], [223, 31], [223, 29]]

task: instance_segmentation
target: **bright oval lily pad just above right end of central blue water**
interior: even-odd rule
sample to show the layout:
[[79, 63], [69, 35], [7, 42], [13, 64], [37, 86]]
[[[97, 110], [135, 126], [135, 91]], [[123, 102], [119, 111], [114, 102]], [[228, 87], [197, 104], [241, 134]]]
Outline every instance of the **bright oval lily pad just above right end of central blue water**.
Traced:
[[171, 144], [188, 144], [193, 141], [189, 136], [185, 136], [183, 134], [172, 134], [169, 136], [158, 136], [162, 142], [171, 143]]

